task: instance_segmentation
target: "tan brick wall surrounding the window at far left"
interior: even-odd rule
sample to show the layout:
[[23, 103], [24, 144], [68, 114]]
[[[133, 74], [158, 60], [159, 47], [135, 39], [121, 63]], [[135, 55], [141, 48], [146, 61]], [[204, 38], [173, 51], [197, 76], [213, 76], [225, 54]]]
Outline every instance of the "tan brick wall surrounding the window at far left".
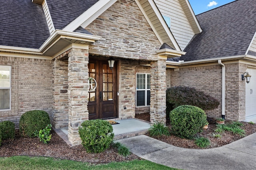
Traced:
[[51, 115], [52, 61], [0, 56], [0, 64], [12, 66], [11, 110], [0, 111], [0, 121], [12, 121], [18, 127], [26, 111], [38, 109]]

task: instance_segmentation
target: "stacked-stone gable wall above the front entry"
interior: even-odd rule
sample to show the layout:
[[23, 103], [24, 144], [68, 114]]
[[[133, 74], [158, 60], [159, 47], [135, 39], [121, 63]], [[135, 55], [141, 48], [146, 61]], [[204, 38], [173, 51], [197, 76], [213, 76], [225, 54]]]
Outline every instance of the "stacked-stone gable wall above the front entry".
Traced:
[[134, 0], [118, 0], [85, 29], [102, 37], [89, 46], [90, 54], [157, 59], [161, 44]]

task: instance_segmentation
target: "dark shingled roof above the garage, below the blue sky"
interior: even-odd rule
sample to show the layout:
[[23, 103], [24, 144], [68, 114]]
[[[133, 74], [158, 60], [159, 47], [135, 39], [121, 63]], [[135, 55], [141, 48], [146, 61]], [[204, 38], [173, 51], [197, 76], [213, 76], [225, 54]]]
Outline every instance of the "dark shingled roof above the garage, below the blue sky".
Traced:
[[245, 55], [256, 31], [255, 0], [236, 0], [197, 15], [203, 29], [184, 49], [184, 61]]

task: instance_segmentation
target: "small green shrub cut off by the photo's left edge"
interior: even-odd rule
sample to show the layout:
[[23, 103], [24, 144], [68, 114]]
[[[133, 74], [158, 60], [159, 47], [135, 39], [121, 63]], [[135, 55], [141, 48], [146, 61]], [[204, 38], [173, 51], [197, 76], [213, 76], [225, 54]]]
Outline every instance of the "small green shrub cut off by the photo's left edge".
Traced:
[[2, 140], [14, 139], [15, 124], [11, 121], [2, 121], [0, 123], [0, 131], [2, 132]]

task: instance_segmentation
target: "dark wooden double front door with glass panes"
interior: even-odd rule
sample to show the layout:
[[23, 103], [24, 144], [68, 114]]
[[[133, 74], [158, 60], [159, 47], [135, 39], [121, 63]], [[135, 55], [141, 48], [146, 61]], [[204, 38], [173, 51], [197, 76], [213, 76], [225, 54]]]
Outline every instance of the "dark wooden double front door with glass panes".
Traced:
[[110, 69], [108, 61], [89, 60], [89, 119], [110, 119], [117, 117], [116, 65], [115, 63], [114, 68]]

